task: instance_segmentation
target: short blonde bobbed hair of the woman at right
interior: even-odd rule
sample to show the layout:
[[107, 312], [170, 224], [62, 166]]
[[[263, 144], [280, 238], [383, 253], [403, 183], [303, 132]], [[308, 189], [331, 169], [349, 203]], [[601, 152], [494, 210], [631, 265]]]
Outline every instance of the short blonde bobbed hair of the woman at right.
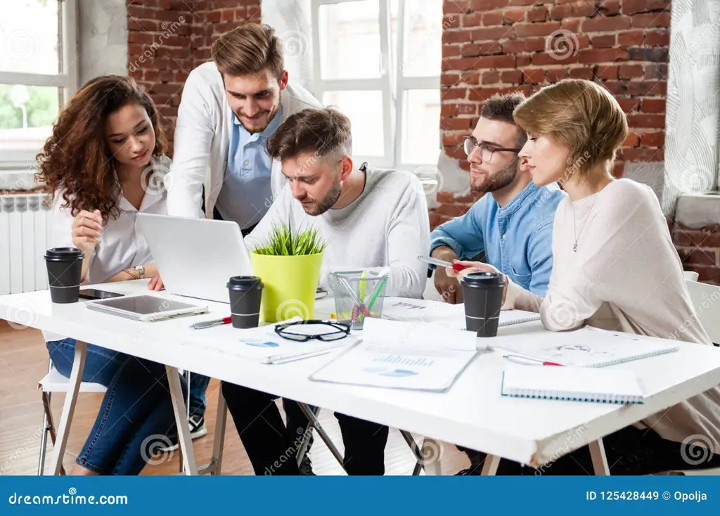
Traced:
[[523, 101], [513, 113], [530, 135], [544, 135], [570, 149], [568, 164], [581, 178], [598, 163], [612, 163], [628, 135], [618, 101], [599, 84], [565, 79]]

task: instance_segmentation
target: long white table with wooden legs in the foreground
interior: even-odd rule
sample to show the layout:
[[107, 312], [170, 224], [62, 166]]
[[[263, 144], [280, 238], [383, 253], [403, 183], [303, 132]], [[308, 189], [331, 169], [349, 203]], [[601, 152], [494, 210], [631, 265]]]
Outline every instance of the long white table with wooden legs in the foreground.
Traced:
[[[147, 292], [147, 281], [127, 281], [95, 286], [121, 294]], [[155, 293], [168, 296], [164, 293]], [[173, 299], [187, 300], [173, 297]], [[234, 356], [237, 344], [233, 327], [190, 330], [199, 320], [225, 317], [228, 305], [209, 302], [211, 313], [164, 322], [134, 322], [93, 312], [82, 302], [53, 304], [48, 291], [0, 297], [0, 318], [76, 338], [121, 353], [166, 364], [178, 422], [185, 471], [197, 474], [189, 439], [186, 409], [177, 369], [230, 381], [310, 405], [342, 412], [426, 438], [483, 451], [490, 456], [485, 474], [494, 474], [499, 458], [530, 466], [542, 466], [552, 458], [590, 445], [596, 474], [608, 474], [602, 438], [627, 425], [720, 384], [720, 349], [678, 343], [680, 351], [624, 364], [642, 379], [647, 394], [644, 404], [614, 406], [577, 402], [515, 399], [500, 396], [500, 376], [506, 364], [497, 353], [481, 352], [446, 393], [400, 391], [364, 386], [314, 382], [310, 374], [328, 363], [336, 353], [276, 366]], [[331, 299], [316, 306], [316, 317], [333, 309]], [[32, 317], [28, 317], [28, 313]], [[495, 345], [502, 340], [552, 338], [539, 322], [500, 328]], [[58, 474], [74, 408], [78, 371], [84, 361], [84, 345], [78, 345], [73, 365], [74, 391], [68, 392], [63, 421], [53, 456]], [[572, 440], [570, 439], [572, 436]], [[438, 463], [426, 466], [438, 472]]]

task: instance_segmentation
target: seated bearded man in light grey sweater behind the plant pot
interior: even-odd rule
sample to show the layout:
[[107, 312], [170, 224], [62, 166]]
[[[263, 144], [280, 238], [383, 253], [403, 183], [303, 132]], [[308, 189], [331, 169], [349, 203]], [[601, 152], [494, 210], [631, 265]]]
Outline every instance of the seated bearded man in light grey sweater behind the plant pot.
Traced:
[[[357, 168], [350, 157], [351, 143], [350, 120], [336, 109], [304, 109], [284, 120], [269, 137], [267, 150], [281, 160], [288, 184], [246, 237], [246, 245], [256, 247], [274, 225], [316, 227], [328, 242], [320, 286], [326, 286], [329, 273], [338, 268], [388, 267], [388, 296], [420, 298], [427, 268], [417, 257], [430, 245], [420, 181], [409, 172]], [[284, 425], [273, 403], [276, 396], [227, 382], [222, 383], [222, 394], [255, 474], [297, 474], [295, 461], [276, 466], [303, 430]], [[336, 416], [348, 473], [383, 474], [387, 427]]]

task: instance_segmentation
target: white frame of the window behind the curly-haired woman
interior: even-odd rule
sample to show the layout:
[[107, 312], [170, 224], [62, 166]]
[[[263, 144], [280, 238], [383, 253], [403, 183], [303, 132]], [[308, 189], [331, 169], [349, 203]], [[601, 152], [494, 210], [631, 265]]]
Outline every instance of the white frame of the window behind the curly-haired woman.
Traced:
[[[0, 70], [0, 83], [25, 86], [55, 86], [60, 89], [58, 107], [63, 109], [78, 90], [78, 2], [58, 2], [58, 73], [22, 73]], [[42, 147], [42, 145], [41, 145]], [[4, 150], [0, 169], [14, 168], [34, 161], [37, 150]]]

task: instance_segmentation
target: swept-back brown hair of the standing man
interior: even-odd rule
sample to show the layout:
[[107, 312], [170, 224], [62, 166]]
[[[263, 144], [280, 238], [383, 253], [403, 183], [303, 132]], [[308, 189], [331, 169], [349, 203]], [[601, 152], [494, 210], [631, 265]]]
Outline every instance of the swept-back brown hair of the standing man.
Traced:
[[269, 70], [280, 78], [284, 71], [282, 41], [266, 24], [248, 23], [225, 32], [212, 44], [212, 60], [223, 75], [246, 76]]

